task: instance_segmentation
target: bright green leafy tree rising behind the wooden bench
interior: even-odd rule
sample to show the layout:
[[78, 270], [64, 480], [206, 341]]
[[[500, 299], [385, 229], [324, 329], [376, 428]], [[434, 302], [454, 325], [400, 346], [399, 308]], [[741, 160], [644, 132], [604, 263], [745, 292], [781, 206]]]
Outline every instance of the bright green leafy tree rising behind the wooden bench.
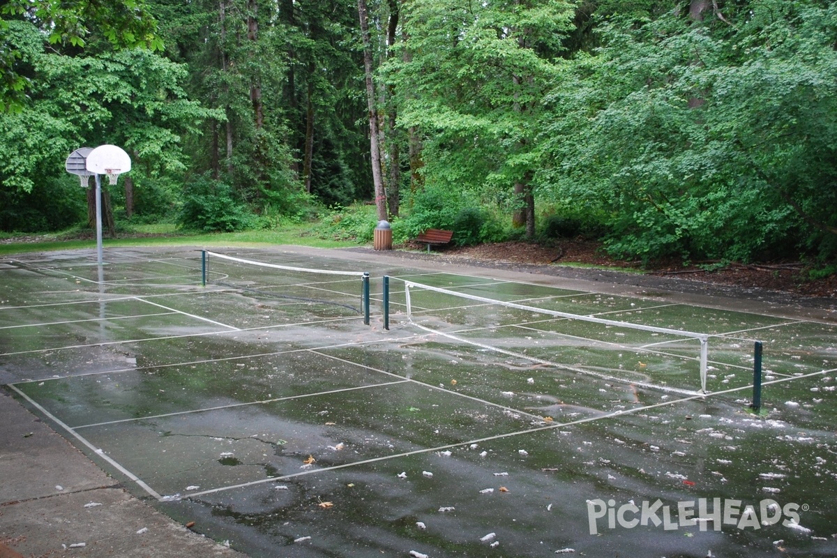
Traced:
[[403, 8], [408, 55], [387, 68], [400, 126], [423, 131], [425, 180], [512, 189], [513, 223], [530, 237], [537, 122], [573, 16], [557, 0], [416, 0]]

